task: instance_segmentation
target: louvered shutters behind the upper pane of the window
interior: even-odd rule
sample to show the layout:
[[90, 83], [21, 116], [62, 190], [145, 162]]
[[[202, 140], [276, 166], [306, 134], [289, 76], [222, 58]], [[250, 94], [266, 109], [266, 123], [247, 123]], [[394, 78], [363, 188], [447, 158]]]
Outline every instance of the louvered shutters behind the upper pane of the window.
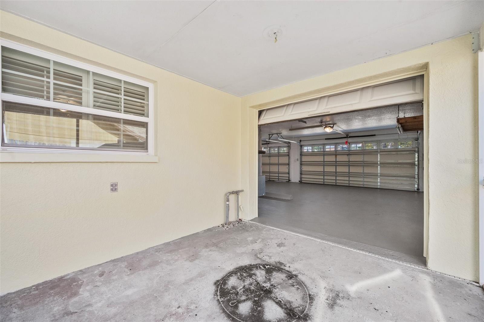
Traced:
[[4, 93], [148, 117], [147, 87], [3, 46], [1, 58]]

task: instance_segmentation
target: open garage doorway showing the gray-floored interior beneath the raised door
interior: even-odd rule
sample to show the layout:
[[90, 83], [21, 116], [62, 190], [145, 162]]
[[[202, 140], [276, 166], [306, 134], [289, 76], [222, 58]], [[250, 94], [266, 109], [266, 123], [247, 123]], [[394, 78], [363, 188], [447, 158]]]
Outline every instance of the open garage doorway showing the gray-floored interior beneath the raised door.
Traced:
[[423, 99], [260, 124], [253, 221], [425, 266], [423, 133]]

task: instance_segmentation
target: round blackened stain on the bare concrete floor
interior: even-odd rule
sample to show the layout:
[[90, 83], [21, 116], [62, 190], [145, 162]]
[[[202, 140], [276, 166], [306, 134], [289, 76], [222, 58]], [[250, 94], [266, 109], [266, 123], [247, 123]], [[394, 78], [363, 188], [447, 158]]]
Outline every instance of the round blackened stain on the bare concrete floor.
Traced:
[[225, 312], [236, 321], [301, 321], [307, 319], [309, 294], [294, 274], [266, 264], [238, 267], [217, 282]]

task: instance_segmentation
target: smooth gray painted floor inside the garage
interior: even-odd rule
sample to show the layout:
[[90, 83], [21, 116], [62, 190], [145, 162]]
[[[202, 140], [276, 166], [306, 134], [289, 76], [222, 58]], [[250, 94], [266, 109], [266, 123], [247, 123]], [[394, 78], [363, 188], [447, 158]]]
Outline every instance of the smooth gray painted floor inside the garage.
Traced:
[[292, 200], [258, 199], [258, 223], [425, 265], [423, 193], [266, 181]]

